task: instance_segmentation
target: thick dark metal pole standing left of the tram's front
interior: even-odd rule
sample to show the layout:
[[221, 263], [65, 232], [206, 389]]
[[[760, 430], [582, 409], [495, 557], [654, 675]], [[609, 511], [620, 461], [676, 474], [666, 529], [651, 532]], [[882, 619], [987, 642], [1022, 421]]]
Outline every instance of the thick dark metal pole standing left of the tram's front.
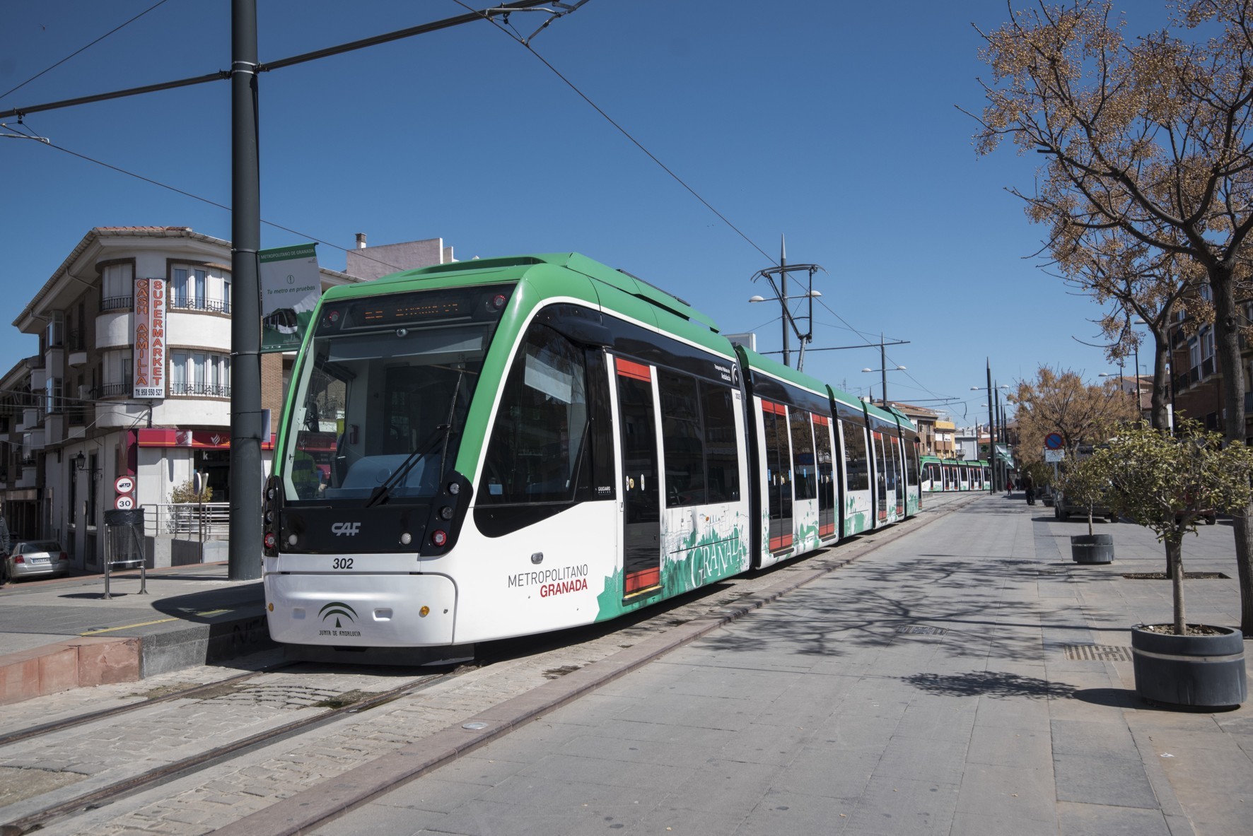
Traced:
[[261, 176], [257, 0], [231, 1], [231, 542], [228, 577], [261, 577]]

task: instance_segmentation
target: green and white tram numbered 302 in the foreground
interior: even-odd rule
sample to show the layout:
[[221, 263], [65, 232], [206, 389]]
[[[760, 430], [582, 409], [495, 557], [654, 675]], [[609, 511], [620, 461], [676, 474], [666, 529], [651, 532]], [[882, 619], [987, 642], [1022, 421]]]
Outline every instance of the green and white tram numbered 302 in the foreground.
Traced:
[[903, 415], [578, 254], [332, 288], [312, 322], [266, 487], [278, 642], [605, 621], [920, 508]]

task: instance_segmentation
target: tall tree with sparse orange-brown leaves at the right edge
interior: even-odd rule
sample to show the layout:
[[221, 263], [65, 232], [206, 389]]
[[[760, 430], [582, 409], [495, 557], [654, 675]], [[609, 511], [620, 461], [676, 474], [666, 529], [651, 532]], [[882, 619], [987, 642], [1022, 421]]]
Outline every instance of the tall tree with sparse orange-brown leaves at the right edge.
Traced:
[[[984, 34], [991, 66], [976, 135], [1046, 155], [1034, 193], [1059, 264], [1106, 230], [1190, 259], [1213, 292], [1224, 436], [1244, 443], [1237, 288], [1253, 229], [1253, 20], [1249, 0], [1178, 0], [1165, 29], [1124, 39], [1109, 0], [1036, 3]], [[1197, 30], [1204, 28], [1208, 38]], [[1240, 627], [1253, 636], [1253, 506], [1234, 514]]]

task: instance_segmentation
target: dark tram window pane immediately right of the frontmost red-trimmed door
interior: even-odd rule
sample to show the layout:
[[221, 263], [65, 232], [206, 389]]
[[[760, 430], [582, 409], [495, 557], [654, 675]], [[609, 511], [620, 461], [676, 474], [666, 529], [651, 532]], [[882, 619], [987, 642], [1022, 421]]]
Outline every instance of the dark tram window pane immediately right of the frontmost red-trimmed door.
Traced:
[[662, 448], [665, 452], [665, 507], [705, 503], [704, 432], [697, 379], [659, 369]]

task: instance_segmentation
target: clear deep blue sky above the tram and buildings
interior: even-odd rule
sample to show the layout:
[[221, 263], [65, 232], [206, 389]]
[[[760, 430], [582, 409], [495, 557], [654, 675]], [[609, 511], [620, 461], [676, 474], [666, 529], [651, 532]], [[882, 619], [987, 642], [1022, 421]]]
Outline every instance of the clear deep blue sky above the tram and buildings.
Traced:
[[[0, 91], [155, 0], [0, 6]], [[480, 8], [471, 4], [474, 8]], [[452, 0], [259, 0], [259, 56], [284, 58], [461, 14]], [[54, 101], [229, 65], [227, 0], [167, 0], [0, 98]], [[1036, 267], [1042, 230], [1007, 185], [1037, 160], [975, 154], [982, 29], [1000, 0], [590, 0], [536, 51], [753, 244], [826, 268], [813, 348], [888, 340], [888, 397], [955, 397], [986, 421], [985, 362], [1001, 383], [1041, 363], [1116, 372], [1096, 307]], [[515, 15], [529, 34], [539, 18]], [[487, 24], [261, 76], [262, 245], [445, 239], [456, 255], [576, 250], [645, 278], [779, 348], [777, 304], [751, 277], [767, 258]], [[6, 119], [14, 123], [14, 119]], [[231, 201], [229, 83], [34, 114], [68, 148], [221, 204]], [[34, 354], [8, 323], [91, 227], [180, 225], [229, 238], [229, 214], [43, 144], [0, 140], [0, 368]], [[343, 252], [318, 247], [343, 269]], [[850, 330], [850, 327], [856, 329]], [[857, 333], [860, 332], [860, 333]], [[1145, 362], [1141, 358], [1141, 362]], [[878, 390], [878, 349], [814, 352], [806, 372]], [[1130, 368], [1128, 368], [1130, 374]]]

